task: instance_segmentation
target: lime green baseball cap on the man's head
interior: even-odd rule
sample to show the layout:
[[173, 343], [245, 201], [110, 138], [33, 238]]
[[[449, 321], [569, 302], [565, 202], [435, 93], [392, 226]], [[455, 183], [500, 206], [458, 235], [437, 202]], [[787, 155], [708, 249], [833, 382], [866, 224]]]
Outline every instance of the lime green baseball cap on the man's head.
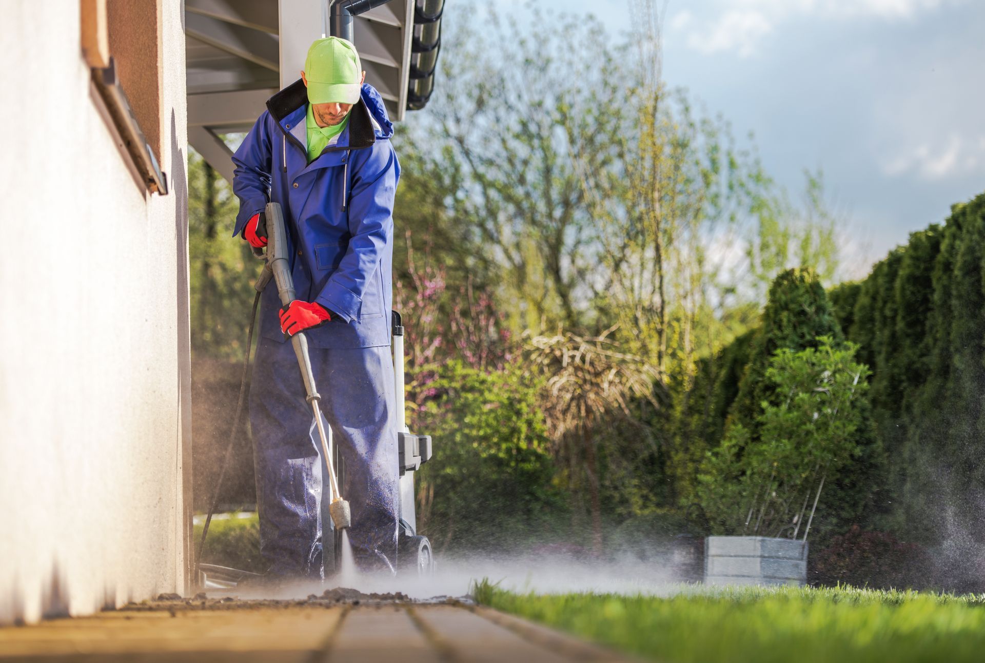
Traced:
[[338, 36], [315, 39], [304, 59], [311, 103], [356, 103], [360, 100], [360, 54], [352, 41]]

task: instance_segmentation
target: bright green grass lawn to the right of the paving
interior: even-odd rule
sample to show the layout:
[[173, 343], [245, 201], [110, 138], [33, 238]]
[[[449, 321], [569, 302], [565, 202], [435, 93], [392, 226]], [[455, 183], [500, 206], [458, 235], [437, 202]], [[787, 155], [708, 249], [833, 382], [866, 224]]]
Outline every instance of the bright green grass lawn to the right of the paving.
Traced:
[[685, 588], [675, 596], [516, 594], [479, 603], [643, 658], [716, 661], [985, 661], [985, 596], [854, 589]]

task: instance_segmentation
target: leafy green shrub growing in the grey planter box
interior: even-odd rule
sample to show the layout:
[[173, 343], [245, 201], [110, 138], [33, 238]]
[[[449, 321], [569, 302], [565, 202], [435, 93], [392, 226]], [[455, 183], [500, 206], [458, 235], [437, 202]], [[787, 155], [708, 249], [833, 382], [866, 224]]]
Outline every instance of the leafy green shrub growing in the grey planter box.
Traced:
[[813, 515], [825, 481], [862, 453], [869, 369], [854, 361], [857, 349], [826, 337], [817, 348], [774, 353], [765, 379], [777, 398], [756, 417], [758, 439], [732, 426], [698, 478], [718, 531], [806, 538], [805, 515]]

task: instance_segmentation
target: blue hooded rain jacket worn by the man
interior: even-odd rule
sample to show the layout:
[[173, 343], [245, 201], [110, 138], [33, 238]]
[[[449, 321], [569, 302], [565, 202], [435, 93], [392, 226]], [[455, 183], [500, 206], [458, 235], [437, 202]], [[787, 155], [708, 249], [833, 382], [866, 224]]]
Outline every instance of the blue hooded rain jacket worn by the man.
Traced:
[[[232, 156], [239, 198], [233, 235], [268, 201], [284, 208], [297, 297], [332, 320], [305, 332], [314, 348], [390, 344], [393, 199], [400, 165], [383, 99], [363, 85], [349, 125], [307, 162], [307, 94], [300, 80], [267, 101]], [[262, 298], [260, 333], [284, 343], [277, 289]]]

